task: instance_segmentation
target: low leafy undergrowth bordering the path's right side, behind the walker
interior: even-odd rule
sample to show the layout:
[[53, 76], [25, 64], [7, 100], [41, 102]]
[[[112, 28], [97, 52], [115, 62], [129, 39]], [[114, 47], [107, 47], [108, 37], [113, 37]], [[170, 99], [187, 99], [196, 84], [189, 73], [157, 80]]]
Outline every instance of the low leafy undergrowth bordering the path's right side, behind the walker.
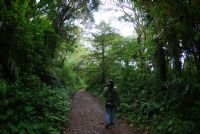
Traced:
[[[200, 131], [199, 84], [187, 85], [183, 79], [157, 84], [149, 76], [116, 79], [120, 96], [118, 116], [147, 134], [198, 134]], [[132, 80], [131, 80], [132, 79]], [[88, 89], [100, 96], [106, 85]], [[191, 87], [192, 86], [192, 87]], [[164, 90], [163, 90], [164, 87]]]

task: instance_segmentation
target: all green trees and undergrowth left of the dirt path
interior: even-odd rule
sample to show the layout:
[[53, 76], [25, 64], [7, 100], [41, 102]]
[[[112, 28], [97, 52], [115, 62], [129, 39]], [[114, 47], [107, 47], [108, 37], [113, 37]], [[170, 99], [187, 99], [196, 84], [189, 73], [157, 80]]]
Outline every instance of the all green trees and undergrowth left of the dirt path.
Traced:
[[98, 5], [0, 0], [0, 133], [61, 132], [70, 96], [81, 87], [66, 62], [80, 38], [74, 20], [92, 19]]

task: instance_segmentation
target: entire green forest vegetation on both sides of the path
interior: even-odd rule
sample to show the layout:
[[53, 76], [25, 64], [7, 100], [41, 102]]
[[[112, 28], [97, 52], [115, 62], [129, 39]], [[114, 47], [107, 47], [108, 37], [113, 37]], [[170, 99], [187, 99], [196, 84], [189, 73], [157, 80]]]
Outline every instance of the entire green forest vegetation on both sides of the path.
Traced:
[[[70, 97], [119, 91], [118, 116], [149, 134], [200, 131], [200, 1], [113, 1], [136, 36], [109, 23], [83, 45], [99, 0], [0, 0], [0, 133], [60, 133]], [[103, 5], [102, 5], [103, 6]], [[113, 7], [113, 10], [114, 9]]]

